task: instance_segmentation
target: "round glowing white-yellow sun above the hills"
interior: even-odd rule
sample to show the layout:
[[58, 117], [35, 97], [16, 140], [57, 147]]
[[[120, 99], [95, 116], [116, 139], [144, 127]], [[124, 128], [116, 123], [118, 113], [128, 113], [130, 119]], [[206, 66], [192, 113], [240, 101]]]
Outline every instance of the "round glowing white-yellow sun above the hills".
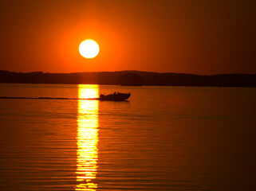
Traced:
[[99, 45], [92, 39], [82, 41], [79, 45], [79, 53], [85, 58], [94, 58], [100, 51]]

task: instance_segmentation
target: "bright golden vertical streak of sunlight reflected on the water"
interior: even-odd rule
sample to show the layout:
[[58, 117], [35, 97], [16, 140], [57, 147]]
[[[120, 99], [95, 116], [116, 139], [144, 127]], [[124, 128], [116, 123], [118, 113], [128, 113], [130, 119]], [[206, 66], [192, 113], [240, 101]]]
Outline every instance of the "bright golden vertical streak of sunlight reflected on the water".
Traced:
[[76, 190], [96, 190], [96, 168], [98, 160], [98, 85], [78, 85], [77, 115], [77, 187]]

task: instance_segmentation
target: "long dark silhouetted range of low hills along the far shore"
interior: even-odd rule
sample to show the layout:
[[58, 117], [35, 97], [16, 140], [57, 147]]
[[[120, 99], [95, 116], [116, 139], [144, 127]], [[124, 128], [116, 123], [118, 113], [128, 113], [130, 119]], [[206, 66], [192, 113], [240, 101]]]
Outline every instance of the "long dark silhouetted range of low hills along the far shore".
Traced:
[[[129, 73], [129, 74], [128, 74]], [[200, 76], [183, 73], [158, 73], [140, 71], [121, 72], [9, 72], [0, 70], [0, 83], [26, 84], [120, 84], [122, 77], [132, 75], [135, 81], [126, 79], [123, 85], [161, 86], [215, 86], [215, 87], [256, 87], [256, 74], [219, 74]], [[131, 76], [130, 76], [131, 77]], [[139, 80], [141, 79], [141, 81]], [[137, 83], [137, 84], [136, 84]]]

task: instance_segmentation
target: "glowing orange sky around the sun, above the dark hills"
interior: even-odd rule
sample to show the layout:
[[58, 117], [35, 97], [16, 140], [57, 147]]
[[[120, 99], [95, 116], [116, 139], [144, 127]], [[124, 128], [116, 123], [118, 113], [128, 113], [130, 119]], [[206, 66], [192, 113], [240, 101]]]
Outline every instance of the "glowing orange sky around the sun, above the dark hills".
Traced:
[[[256, 73], [256, 1], [1, 1], [0, 70]], [[100, 45], [94, 59], [81, 41]]]

